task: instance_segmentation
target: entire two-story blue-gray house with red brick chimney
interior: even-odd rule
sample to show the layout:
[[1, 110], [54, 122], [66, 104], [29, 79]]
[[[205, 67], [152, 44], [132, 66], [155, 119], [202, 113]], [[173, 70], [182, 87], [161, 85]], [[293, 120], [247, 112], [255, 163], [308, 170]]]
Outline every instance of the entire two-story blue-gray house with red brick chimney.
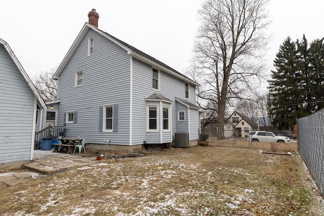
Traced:
[[[54, 74], [57, 124], [90, 148], [170, 144], [187, 134], [199, 140], [198, 84], [168, 65], [98, 28], [92, 10]], [[103, 145], [104, 144], [104, 145]]]

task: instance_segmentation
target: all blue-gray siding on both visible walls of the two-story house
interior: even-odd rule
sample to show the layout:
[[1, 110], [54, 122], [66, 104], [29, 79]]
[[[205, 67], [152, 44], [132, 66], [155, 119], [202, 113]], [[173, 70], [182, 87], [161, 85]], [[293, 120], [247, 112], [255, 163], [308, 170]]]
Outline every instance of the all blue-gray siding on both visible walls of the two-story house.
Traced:
[[[88, 56], [90, 37], [94, 37], [93, 56]], [[83, 85], [75, 88], [75, 73], [79, 71], [83, 71]], [[66, 112], [73, 111], [77, 113], [77, 120], [66, 124], [66, 136], [83, 136], [90, 143], [102, 144], [106, 144], [105, 139], [111, 140], [111, 144], [120, 145], [139, 145], [143, 144], [143, 141], [148, 144], [171, 142], [171, 133], [177, 132], [175, 97], [185, 98], [185, 82], [165, 71], [160, 71], [159, 84], [159, 91], [152, 90], [151, 65], [129, 56], [127, 51], [90, 29], [60, 74], [58, 99], [61, 102], [58, 125], [64, 124]], [[190, 85], [191, 103], [195, 103], [194, 90], [195, 88]], [[155, 92], [172, 101], [172, 104], [165, 104], [170, 106], [172, 111], [170, 132], [146, 131], [146, 106], [149, 103], [145, 98]], [[161, 106], [159, 102], [157, 103]], [[99, 132], [101, 131], [99, 118], [102, 113], [100, 107], [104, 105], [118, 105], [117, 132]], [[132, 113], [131, 121], [130, 113]], [[186, 112], [186, 115], [188, 114]], [[186, 116], [186, 119], [190, 118]], [[198, 127], [198, 121], [192, 124]]]

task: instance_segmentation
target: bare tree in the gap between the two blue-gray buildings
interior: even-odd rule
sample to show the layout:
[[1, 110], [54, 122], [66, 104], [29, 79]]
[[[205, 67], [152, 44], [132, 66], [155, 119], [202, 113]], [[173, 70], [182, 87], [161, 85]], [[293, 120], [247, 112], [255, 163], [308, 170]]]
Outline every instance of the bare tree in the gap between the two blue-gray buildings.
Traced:
[[31, 80], [45, 102], [57, 99], [57, 80], [53, 79], [56, 68], [34, 75]]

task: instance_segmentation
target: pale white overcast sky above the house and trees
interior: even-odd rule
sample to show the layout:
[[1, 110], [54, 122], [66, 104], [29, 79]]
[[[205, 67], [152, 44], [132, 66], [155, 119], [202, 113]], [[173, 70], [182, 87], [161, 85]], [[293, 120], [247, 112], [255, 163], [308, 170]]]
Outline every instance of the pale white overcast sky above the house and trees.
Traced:
[[[1, 2], [0, 38], [8, 42], [29, 76], [58, 66], [88, 13], [99, 13], [99, 28], [183, 72], [192, 56], [197, 11], [203, 0], [78, 0]], [[272, 0], [268, 74], [287, 36], [324, 37], [319, 0]]]

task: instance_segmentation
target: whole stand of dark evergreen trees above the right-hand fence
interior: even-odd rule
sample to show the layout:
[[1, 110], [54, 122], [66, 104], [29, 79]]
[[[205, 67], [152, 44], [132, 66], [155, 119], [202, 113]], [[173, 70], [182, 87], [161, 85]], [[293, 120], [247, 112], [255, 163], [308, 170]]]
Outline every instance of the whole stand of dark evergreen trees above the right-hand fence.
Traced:
[[288, 37], [274, 60], [269, 80], [269, 117], [278, 129], [324, 108], [324, 38], [295, 43]]

